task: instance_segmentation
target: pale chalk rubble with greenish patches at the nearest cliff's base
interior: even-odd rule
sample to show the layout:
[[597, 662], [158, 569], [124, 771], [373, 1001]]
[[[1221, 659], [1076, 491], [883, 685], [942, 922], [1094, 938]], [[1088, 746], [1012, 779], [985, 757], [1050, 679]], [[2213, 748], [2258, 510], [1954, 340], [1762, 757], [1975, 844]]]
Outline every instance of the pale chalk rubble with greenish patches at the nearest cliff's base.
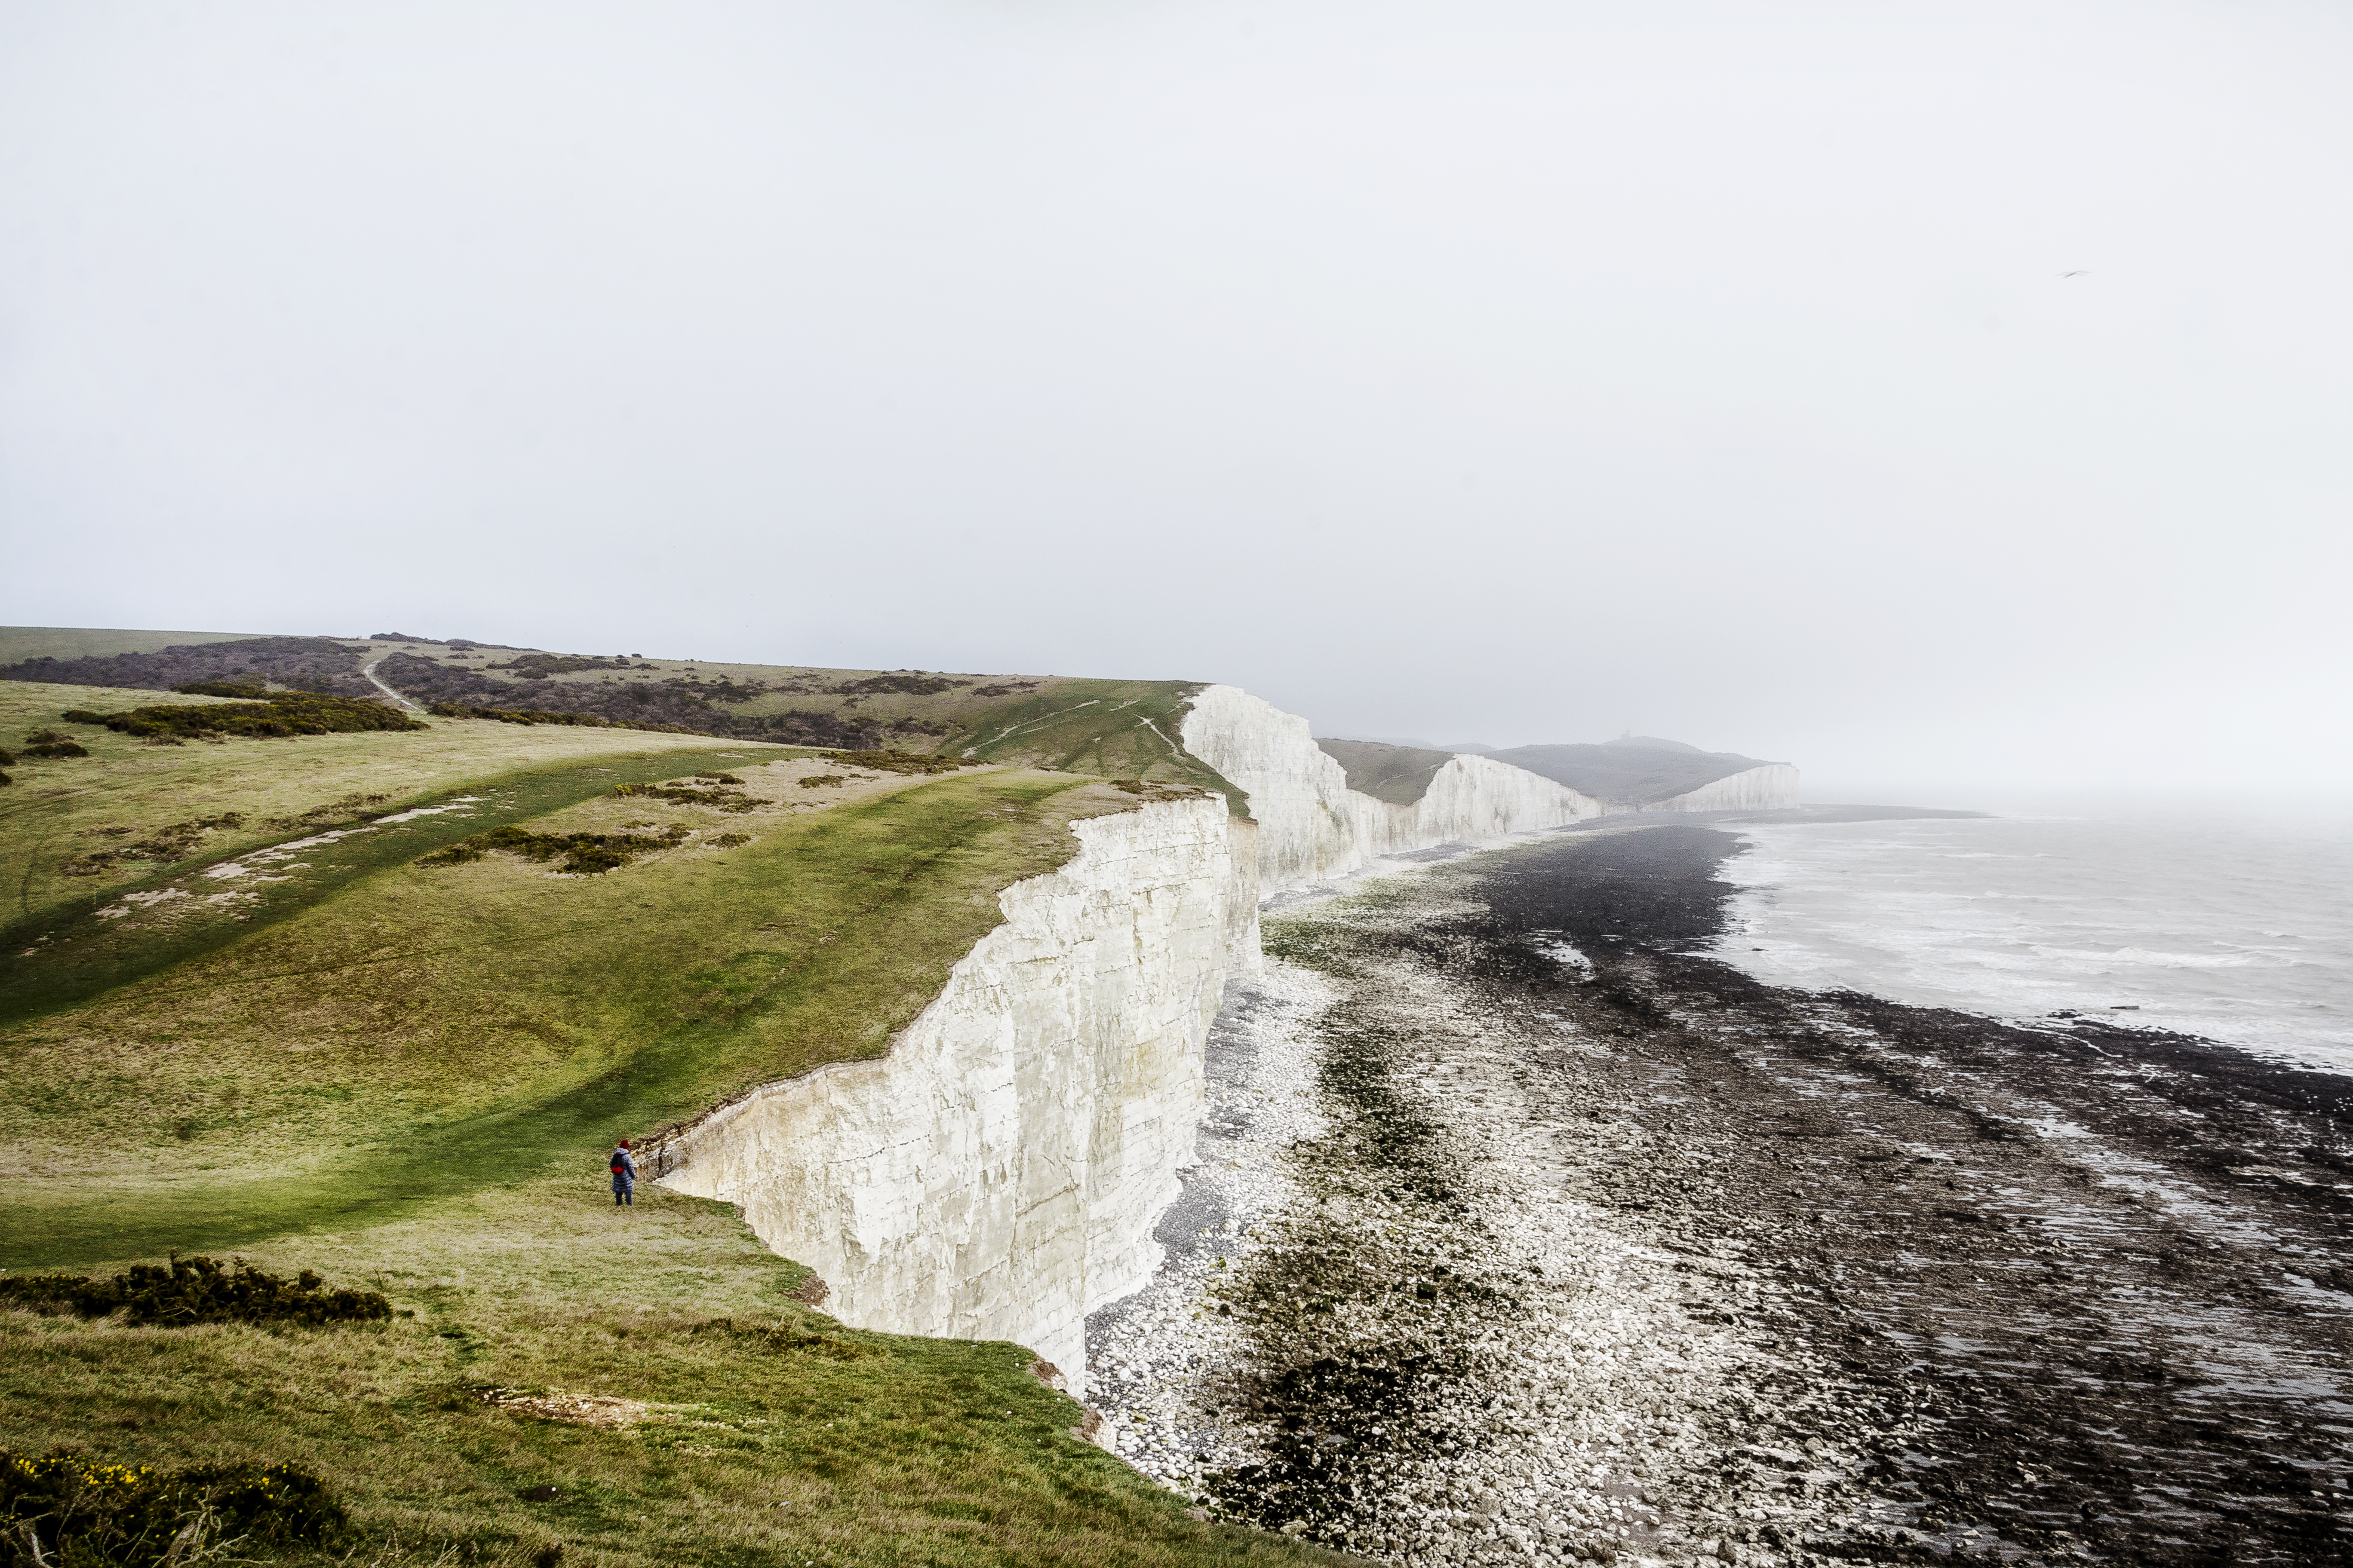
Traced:
[[[1739, 1248], [1565, 1194], [1640, 1157], [1525, 1072], [1595, 1046], [1400, 964], [1337, 990], [1271, 961], [1240, 992], [1172, 1262], [1089, 1324], [1118, 1453], [1398, 1563], [1777, 1561], [1760, 1542], [1809, 1509], [1725, 1481], [1774, 1432], [1812, 1507], [1847, 1490], [1824, 1436], [1854, 1418], [1805, 1347], [1706, 1321], [1772, 1312]], [[1219, 1213], [1242, 1234], [1179, 1234]]]

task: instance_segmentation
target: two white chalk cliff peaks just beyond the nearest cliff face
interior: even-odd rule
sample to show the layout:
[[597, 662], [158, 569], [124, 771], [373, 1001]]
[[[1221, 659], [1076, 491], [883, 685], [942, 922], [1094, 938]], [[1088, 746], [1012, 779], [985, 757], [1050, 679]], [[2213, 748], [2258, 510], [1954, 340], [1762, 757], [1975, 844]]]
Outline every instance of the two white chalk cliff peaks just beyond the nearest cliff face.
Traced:
[[1306, 719], [1238, 686], [1202, 686], [1181, 741], [1249, 795], [1264, 893], [1332, 882], [1400, 851], [1602, 816], [1593, 797], [1487, 757], [1454, 757], [1412, 804], [1358, 795], [1346, 769], [1315, 745]]

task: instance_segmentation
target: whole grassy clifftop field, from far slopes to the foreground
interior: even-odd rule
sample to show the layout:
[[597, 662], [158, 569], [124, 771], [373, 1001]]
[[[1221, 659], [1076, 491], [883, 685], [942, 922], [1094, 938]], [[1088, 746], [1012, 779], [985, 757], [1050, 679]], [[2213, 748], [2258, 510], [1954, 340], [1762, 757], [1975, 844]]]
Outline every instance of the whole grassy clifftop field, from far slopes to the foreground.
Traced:
[[1315, 1556], [1075, 1439], [1028, 1352], [845, 1331], [729, 1208], [605, 1190], [616, 1135], [882, 1051], [995, 891], [1132, 795], [473, 717], [153, 745], [56, 715], [207, 698], [0, 701], [87, 752], [0, 790], [7, 1274], [238, 1253], [402, 1314], [0, 1309], [0, 1448], [304, 1465], [353, 1533], [240, 1547], [273, 1561]]

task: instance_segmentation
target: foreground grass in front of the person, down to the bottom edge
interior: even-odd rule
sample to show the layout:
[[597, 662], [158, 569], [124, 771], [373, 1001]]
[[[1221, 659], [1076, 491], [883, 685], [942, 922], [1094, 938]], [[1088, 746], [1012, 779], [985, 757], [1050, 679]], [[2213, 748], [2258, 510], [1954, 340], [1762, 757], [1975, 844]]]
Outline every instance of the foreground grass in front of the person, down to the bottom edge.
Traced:
[[[304, 1462], [365, 1535], [351, 1563], [520, 1566], [548, 1547], [569, 1568], [1339, 1561], [1186, 1516], [1071, 1434], [1078, 1406], [1028, 1375], [1026, 1349], [842, 1331], [793, 1305], [795, 1269], [720, 1204], [640, 1190], [614, 1211], [591, 1173], [256, 1262], [320, 1267], [416, 1316], [271, 1333], [0, 1312], [0, 1443]], [[649, 1410], [595, 1429], [482, 1389]]]

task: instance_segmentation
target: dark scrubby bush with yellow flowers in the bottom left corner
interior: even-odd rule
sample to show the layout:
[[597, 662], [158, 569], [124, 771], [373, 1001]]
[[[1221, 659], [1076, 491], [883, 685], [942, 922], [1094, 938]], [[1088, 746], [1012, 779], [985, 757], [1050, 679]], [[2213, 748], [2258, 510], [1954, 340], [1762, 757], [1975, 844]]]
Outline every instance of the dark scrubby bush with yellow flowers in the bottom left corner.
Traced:
[[181, 1568], [245, 1542], [325, 1547], [351, 1528], [301, 1465], [99, 1465], [0, 1448], [0, 1563]]

